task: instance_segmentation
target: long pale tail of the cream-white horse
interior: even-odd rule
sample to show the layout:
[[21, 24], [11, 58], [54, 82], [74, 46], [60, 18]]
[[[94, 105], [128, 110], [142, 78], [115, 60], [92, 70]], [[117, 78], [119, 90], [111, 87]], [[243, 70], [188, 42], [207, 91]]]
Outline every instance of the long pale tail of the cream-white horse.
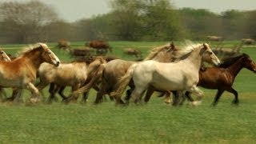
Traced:
[[138, 66], [137, 63], [134, 63], [132, 66], [130, 66], [126, 74], [118, 80], [118, 83], [115, 86], [118, 88], [110, 93], [110, 97], [116, 98], [117, 102], [120, 102], [122, 93], [126, 90], [126, 86], [128, 86], [130, 79], [133, 77], [136, 66]]

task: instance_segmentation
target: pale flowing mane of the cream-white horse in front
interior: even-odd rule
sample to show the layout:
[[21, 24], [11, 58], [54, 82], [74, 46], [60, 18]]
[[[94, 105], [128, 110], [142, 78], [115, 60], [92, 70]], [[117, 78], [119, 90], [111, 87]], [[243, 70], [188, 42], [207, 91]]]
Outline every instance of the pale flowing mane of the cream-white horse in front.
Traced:
[[175, 62], [178, 62], [184, 58], [186, 58], [195, 48], [201, 46], [202, 44], [194, 43], [191, 41], [186, 41], [182, 44], [182, 49], [179, 49], [174, 55]]

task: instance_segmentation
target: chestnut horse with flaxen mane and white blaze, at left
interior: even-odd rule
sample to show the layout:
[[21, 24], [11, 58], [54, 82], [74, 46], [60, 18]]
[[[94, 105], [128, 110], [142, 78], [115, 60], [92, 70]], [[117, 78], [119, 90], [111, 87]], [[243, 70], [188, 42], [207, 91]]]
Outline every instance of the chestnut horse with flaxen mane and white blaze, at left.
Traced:
[[32, 93], [29, 102], [38, 102], [38, 89], [33, 82], [43, 62], [49, 62], [54, 66], [60, 64], [58, 57], [44, 43], [38, 43], [31, 49], [23, 51], [20, 57], [13, 61], [0, 61], [0, 86], [15, 87], [18, 94], [22, 89], [28, 89]]

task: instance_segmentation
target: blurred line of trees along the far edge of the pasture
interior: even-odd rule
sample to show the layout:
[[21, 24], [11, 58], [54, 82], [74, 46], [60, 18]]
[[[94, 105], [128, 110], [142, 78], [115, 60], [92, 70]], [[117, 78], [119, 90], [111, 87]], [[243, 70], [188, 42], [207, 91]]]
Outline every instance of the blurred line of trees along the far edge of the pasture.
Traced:
[[30, 43], [93, 39], [115, 41], [227, 40], [256, 38], [256, 10], [177, 9], [170, 0], [110, 0], [111, 11], [66, 22], [41, 1], [0, 4], [0, 42]]

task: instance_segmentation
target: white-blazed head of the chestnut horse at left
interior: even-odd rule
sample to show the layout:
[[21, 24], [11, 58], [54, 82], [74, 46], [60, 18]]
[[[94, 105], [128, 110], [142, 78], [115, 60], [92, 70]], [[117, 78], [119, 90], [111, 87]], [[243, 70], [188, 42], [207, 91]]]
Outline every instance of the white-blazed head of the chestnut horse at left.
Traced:
[[38, 43], [42, 49], [44, 50], [42, 54], [43, 61], [49, 62], [55, 66], [59, 66], [60, 61], [58, 57], [49, 49], [49, 47], [45, 43]]

